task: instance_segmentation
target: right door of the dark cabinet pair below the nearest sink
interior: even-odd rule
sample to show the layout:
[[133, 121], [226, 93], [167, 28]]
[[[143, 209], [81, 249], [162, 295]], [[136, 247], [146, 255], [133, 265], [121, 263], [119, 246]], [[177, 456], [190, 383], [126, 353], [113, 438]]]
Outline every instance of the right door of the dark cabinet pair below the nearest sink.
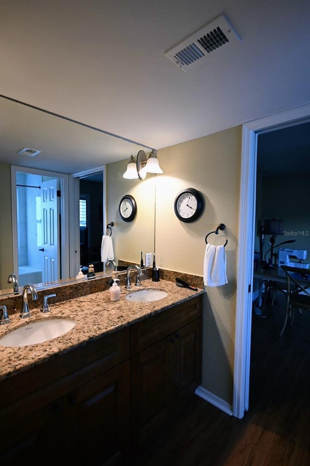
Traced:
[[67, 464], [121, 465], [130, 450], [130, 362], [65, 397]]

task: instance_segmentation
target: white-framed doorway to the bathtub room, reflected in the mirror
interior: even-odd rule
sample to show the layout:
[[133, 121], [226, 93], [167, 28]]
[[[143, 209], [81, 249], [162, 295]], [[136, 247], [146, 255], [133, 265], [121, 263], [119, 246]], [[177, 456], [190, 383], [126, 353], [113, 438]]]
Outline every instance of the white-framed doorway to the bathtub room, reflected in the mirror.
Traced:
[[19, 286], [69, 278], [67, 175], [11, 167], [13, 263]]

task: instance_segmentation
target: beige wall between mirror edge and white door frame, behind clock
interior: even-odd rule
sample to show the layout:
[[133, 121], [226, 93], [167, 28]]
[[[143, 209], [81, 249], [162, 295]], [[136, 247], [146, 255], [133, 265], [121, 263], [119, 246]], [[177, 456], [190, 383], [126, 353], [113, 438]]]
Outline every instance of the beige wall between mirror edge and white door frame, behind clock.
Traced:
[[[156, 177], [156, 266], [203, 275], [205, 236], [219, 223], [226, 230], [209, 236], [227, 254], [228, 284], [208, 287], [204, 308], [202, 386], [232, 404], [236, 305], [236, 257], [240, 196], [241, 126], [157, 151], [163, 175]], [[196, 222], [174, 214], [184, 188], [202, 192], [205, 210]]]

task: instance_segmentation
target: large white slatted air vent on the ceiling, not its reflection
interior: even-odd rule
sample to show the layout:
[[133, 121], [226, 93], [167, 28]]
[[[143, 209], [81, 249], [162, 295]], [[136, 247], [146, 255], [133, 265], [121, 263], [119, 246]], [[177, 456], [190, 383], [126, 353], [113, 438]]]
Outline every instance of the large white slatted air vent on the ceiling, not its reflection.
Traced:
[[208, 53], [219, 50], [223, 46], [231, 46], [238, 41], [241, 41], [241, 38], [227, 17], [221, 15], [165, 52], [165, 55], [179, 68], [186, 71], [196, 66]]

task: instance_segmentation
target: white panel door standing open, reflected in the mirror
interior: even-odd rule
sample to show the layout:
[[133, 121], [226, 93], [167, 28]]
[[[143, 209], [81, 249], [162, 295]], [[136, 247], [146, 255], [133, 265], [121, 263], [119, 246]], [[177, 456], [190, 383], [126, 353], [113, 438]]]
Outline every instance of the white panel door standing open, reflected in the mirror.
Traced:
[[57, 180], [41, 183], [42, 281], [59, 280]]

